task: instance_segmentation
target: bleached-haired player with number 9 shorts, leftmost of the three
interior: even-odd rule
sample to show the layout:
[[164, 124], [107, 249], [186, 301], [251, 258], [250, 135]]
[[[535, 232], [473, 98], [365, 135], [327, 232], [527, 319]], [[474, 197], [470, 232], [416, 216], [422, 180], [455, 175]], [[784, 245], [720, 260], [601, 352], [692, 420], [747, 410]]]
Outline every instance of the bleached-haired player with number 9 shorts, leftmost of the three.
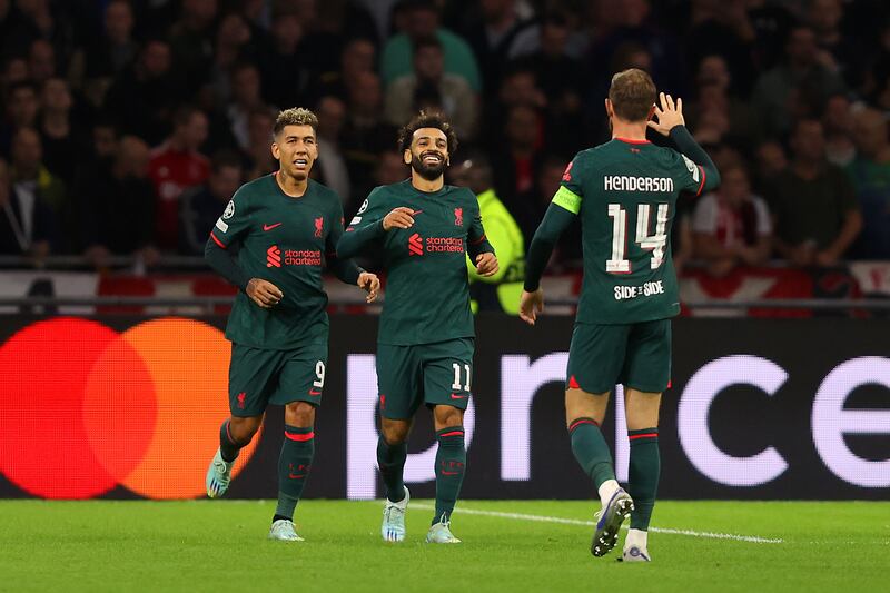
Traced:
[[[259, 429], [268, 404], [285, 406], [285, 439], [278, 461], [278, 507], [269, 538], [299, 542], [297, 506], [315, 453], [315, 412], [327, 363], [327, 295], [322, 266], [344, 283], [377, 296], [379, 280], [338, 258], [343, 235], [339, 197], [309, 179], [318, 157], [318, 119], [287, 109], [275, 121], [271, 154], [278, 171], [241, 186], [216, 221], [205, 255], [240, 288], [229, 315], [229, 408], [219, 451], [207, 470], [207, 495], [228, 490], [238, 452]], [[238, 249], [231, 255], [230, 247]]]

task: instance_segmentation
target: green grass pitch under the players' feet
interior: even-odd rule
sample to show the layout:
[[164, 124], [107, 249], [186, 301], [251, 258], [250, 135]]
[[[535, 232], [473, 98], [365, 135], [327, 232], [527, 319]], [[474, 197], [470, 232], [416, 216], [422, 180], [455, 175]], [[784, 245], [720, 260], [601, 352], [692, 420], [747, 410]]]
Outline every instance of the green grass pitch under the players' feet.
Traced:
[[[591, 556], [592, 528], [580, 524], [592, 518], [590, 503], [461, 502], [452, 526], [464, 543], [452, 546], [423, 543], [429, 504], [412, 501], [406, 542], [385, 544], [379, 502], [304, 501], [297, 527], [306, 542], [287, 544], [266, 541], [275, 508], [269, 501], [2, 501], [0, 591], [854, 592], [890, 586], [886, 502], [661, 502], [653, 527], [693, 533], [651, 533], [651, 564], [616, 562], [617, 548], [602, 559]], [[510, 516], [484, 514], [492, 512]]]

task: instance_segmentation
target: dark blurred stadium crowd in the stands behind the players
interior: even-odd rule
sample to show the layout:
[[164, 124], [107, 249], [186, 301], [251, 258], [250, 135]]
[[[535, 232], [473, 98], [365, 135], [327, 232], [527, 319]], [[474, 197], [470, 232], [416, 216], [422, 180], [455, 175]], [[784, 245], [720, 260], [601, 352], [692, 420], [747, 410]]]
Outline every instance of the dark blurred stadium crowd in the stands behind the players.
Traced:
[[629, 67], [722, 172], [679, 208], [679, 264], [890, 259], [879, 0], [0, 0], [0, 254], [200, 254], [291, 106], [347, 217], [407, 176], [397, 128], [443, 110], [527, 244]]

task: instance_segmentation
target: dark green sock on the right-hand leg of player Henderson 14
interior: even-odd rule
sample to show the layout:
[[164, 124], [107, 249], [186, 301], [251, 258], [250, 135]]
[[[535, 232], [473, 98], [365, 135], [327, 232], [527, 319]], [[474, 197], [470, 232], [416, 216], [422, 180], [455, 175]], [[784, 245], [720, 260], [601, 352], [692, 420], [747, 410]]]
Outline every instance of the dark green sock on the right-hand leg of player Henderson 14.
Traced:
[[631, 528], [646, 531], [655, 506], [659, 490], [661, 457], [659, 455], [659, 429], [643, 428], [629, 431], [631, 441], [631, 462], [627, 492], [633, 497], [634, 511], [631, 513]]

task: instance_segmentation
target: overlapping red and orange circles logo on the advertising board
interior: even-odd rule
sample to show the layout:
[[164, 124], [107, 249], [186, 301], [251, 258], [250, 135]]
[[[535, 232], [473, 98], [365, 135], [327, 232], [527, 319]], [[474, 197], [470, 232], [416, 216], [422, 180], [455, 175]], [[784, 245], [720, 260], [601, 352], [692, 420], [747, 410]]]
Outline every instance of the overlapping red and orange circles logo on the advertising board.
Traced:
[[229, 356], [222, 333], [194, 319], [122, 333], [68, 317], [29, 325], [0, 346], [0, 473], [47, 498], [118, 486], [148, 498], [204, 495], [228, 417]]

